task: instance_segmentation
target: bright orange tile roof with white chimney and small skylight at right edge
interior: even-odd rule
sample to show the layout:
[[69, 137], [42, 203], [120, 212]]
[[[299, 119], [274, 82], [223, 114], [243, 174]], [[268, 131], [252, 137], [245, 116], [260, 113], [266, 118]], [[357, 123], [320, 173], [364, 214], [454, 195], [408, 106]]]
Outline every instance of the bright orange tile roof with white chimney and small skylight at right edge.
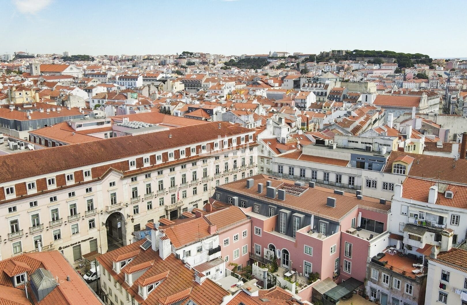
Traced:
[[[438, 180], [423, 180], [408, 177], [403, 183], [403, 198], [428, 202], [429, 189], [434, 185], [438, 185]], [[436, 204], [453, 208], [467, 208], [466, 186], [448, 185], [446, 190], [454, 193], [453, 198], [446, 198], [444, 193], [438, 193]]]

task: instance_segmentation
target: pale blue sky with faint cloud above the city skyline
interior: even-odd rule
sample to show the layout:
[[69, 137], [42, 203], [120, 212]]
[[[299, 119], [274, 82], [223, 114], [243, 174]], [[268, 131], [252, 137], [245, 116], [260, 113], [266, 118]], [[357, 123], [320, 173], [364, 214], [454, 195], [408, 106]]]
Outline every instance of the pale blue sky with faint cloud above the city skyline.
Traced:
[[466, 0], [0, 0], [0, 54], [316, 54], [467, 57]]

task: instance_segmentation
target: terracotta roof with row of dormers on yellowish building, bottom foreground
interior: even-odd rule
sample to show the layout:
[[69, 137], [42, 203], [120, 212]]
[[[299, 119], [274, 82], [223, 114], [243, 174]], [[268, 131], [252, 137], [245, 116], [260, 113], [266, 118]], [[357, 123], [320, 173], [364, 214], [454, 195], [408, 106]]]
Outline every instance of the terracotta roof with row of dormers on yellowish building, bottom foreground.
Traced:
[[[151, 248], [145, 251], [141, 251], [140, 254], [135, 257], [128, 265], [138, 265], [147, 261], [154, 261], [154, 264], [147, 270], [145, 270], [138, 280], [144, 280], [149, 277], [156, 276], [166, 271], [170, 271], [167, 278], [164, 279], [157, 287], [151, 291], [148, 298], [143, 300], [138, 294], [138, 284], [134, 284], [130, 287], [125, 282], [124, 272], [116, 274], [113, 268], [113, 256], [124, 255], [134, 250], [141, 249], [140, 245], [144, 243], [144, 239], [119, 249], [102, 254], [97, 258], [99, 263], [105, 268], [111, 277], [115, 278], [118, 283], [121, 284], [122, 288], [128, 291], [128, 293], [134, 297], [134, 299], [140, 305], [154, 305], [163, 302], [177, 302], [177, 300], [190, 298], [196, 304], [203, 305], [219, 305], [222, 303], [224, 297], [228, 295], [222, 287], [212, 282], [210, 279], [206, 279], [202, 285], [194, 281], [194, 270], [190, 270], [184, 266], [181, 260], [177, 259], [173, 254], [170, 254], [165, 259], [159, 256], [158, 251], [154, 251]], [[136, 281], [136, 279], [134, 279]], [[178, 295], [181, 291], [190, 291], [190, 293]]]

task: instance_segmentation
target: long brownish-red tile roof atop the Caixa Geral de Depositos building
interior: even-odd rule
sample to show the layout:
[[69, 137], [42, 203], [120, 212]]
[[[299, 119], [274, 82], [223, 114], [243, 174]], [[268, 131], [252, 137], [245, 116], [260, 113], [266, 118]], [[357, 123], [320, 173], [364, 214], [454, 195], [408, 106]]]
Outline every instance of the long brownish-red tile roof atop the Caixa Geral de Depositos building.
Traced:
[[[221, 128], [219, 129], [219, 124]], [[228, 137], [249, 129], [225, 122], [210, 122], [175, 128], [169, 131], [152, 132], [136, 136], [124, 136], [99, 141], [52, 147], [23, 153], [0, 156], [0, 183], [55, 173], [86, 165], [128, 158], [157, 152], [169, 147], [183, 147], [194, 143]], [[172, 135], [169, 138], [169, 134]], [[191, 135], [191, 136], [187, 136]], [[111, 153], [109, 153], [111, 152]], [[68, 156], [65, 160], [62, 157]], [[36, 166], [30, 166], [34, 162]], [[121, 163], [121, 162], [120, 162]], [[123, 161], [121, 166], [127, 166]], [[93, 169], [93, 172], [96, 168]], [[105, 167], [104, 172], [108, 169]], [[103, 172], [103, 173], [104, 173]], [[94, 173], [93, 173], [93, 177]]]

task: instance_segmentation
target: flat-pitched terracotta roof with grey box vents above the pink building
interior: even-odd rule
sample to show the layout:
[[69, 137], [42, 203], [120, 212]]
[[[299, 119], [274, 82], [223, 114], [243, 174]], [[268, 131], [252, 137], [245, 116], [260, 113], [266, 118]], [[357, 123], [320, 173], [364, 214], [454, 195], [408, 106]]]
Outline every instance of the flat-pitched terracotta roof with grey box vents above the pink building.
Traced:
[[[239, 194], [239, 196], [254, 196], [254, 198], [260, 198], [265, 202], [273, 202], [279, 206], [291, 207], [301, 211], [306, 211], [313, 215], [319, 213], [320, 216], [326, 217], [331, 220], [340, 221], [340, 219], [345, 216], [349, 211], [354, 208], [364, 208], [369, 210], [374, 210], [378, 213], [388, 214], [391, 210], [390, 202], [386, 204], [379, 203], [379, 199], [371, 197], [363, 197], [363, 200], [356, 198], [355, 194], [344, 193], [343, 195], [334, 194], [333, 189], [318, 187], [304, 187], [304, 192], [300, 196], [295, 196], [292, 194], [286, 194], [285, 200], [271, 199], [266, 197], [266, 190], [264, 189], [262, 194], [258, 194], [258, 183], [263, 183], [266, 185], [266, 181], [271, 181], [272, 187], [280, 189], [286, 184], [293, 185], [295, 181], [291, 180], [275, 180], [267, 175], [256, 175], [250, 177], [249, 179], [254, 179], [254, 186], [252, 188], [246, 187], [246, 180], [237, 180], [225, 185], [218, 186], [220, 190], [227, 190]], [[327, 197], [333, 197], [336, 199], [335, 208], [329, 207], [326, 205]]]

